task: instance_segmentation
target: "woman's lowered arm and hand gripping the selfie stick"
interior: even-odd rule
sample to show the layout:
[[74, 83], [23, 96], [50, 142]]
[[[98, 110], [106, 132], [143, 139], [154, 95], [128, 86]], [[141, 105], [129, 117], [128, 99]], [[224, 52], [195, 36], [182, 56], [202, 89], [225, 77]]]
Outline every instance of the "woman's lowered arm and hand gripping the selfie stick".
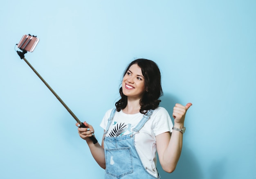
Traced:
[[[93, 144], [93, 141], [90, 140], [89, 137], [91, 137], [94, 134], [94, 129], [90, 124], [87, 124], [86, 122], [83, 122], [86, 127], [88, 128], [78, 128], [78, 133], [82, 139], [84, 139], [92, 153], [92, 156], [94, 157], [95, 161], [101, 166], [101, 168], [105, 169], [106, 168], [106, 162], [105, 162], [105, 153], [104, 153], [104, 135], [102, 138], [102, 143], [101, 145], [99, 142], [96, 144]], [[78, 123], [76, 123], [76, 126], [78, 126]]]

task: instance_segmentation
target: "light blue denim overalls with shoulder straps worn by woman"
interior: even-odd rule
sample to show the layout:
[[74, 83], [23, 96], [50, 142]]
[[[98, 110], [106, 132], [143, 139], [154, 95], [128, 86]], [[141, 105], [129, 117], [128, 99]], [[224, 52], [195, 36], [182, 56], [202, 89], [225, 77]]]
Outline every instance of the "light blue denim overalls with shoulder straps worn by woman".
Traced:
[[[108, 132], [115, 111], [116, 109], [111, 111], [104, 134]], [[153, 110], [149, 110], [137, 126], [132, 129], [133, 132], [131, 134], [104, 138], [105, 179], [157, 179], [144, 168], [134, 143], [135, 134], [139, 133], [139, 130], [148, 121], [152, 113]]]

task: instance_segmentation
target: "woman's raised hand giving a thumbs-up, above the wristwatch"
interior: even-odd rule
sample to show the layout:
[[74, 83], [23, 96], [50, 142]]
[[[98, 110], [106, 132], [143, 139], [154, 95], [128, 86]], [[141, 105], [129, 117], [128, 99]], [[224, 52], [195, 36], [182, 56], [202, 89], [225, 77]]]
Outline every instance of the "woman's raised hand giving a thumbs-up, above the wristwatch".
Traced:
[[188, 103], [186, 104], [186, 106], [177, 103], [175, 107], [173, 107], [173, 118], [175, 124], [184, 125], [186, 111], [189, 109], [191, 105], [192, 103]]

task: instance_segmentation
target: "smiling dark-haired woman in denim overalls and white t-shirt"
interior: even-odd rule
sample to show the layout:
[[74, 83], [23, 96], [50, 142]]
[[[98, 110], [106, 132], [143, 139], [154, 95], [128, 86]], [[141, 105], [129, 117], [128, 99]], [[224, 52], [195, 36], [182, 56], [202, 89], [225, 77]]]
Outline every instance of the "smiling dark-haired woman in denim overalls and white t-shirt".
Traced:
[[173, 172], [182, 150], [185, 114], [192, 104], [175, 105], [173, 126], [166, 109], [159, 107], [159, 68], [147, 59], [128, 65], [119, 93], [121, 99], [100, 124], [104, 129], [101, 145], [90, 140], [94, 135], [90, 124], [84, 122], [87, 128], [78, 128], [94, 159], [105, 169], [105, 179], [158, 179], [156, 152], [162, 168]]

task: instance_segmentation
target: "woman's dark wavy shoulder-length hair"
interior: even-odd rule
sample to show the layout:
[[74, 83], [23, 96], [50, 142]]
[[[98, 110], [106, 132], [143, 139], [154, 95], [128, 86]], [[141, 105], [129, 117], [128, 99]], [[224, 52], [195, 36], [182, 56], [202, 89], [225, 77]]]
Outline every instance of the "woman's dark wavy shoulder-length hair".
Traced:
[[[139, 112], [141, 114], [146, 114], [149, 109], [156, 109], [161, 102], [161, 100], [159, 100], [159, 97], [163, 95], [161, 73], [154, 61], [148, 59], [136, 59], [127, 66], [123, 77], [126, 75], [129, 68], [134, 64], [137, 64], [139, 68], [141, 68], [141, 72], [144, 76], [146, 92], [144, 92], [141, 100], [139, 101], [141, 105]], [[123, 94], [122, 87], [120, 87], [119, 93], [121, 99], [115, 103], [117, 111], [121, 111], [121, 109], [124, 109], [127, 105], [127, 96]]]

